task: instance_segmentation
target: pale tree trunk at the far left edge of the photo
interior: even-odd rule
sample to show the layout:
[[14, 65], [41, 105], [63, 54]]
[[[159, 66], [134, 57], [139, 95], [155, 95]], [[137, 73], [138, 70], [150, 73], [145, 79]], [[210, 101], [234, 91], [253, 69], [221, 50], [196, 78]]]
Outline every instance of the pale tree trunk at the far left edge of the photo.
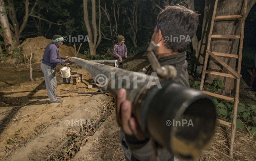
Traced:
[[4, 47], [10, 51], [12, 49], [12, 36], [4, 6], [4, 0], [0, 0], [0, 26], [5, 28], [5, 32], [2, 33], [5, 43]]

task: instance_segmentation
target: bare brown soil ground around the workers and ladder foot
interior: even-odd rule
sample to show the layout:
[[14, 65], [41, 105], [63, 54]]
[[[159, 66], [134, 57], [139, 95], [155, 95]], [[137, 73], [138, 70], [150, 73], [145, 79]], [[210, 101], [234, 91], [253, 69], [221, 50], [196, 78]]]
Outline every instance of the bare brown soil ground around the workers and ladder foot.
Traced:
[[[148, 67], [146, 58], [133, 57], [125, 60], [124, 68], [139, 71]], [[33, 64], [35, 78], [43, 76], [40, 64]], [[125, 161], [119, 143], [119, 126], [116, 123], [115, 102], [107, 94], [66, 93], [58, 98], [63, 103], [49, 104], [44, 80], [29, 81], [27, 65], [1, 69], [5, 80], [0, 81], [0, 159], [4, 161]], [[98, 88], [87, 89], [90, 74], [83, 69], [83, 81], [77, 86], [59, 83], [60, 89], [80, 92], [97, 92]], [[38, 75], [36, 75], [36, 73]], [[19, 80], [22, 75], [24, 81]], [[18, 79], [18, 80], [17, 80]], [[2, 83], [1, 83], [2, 82]], [[5, 84], [1, 86], [1, 84]], [[246, 101], [256, 101], [255, 92], [245, 92], [247, 85], [241, 81], [241, 97]], [[6, 112], [15, 107], [35, 103]], [[72, 122], [91, 119], [92, 125], [109, 109], [109, 113], [99, 123], [95, 132], [85, 126], [72, 127]], [[65, 125], [66, 121], [70, 125]], [[219, 126], [219, 125], [218, 125]], [[16, 142], [12, 143], [9, 138]], [[70, 142], [68, 142], [68, 140]], [[229, 158], [230, 128], [218, 127], [210, 146], [197, 161], [232, 161]], [[256, 160], [256, 138], [246, 129], [236, 132], [233, 161]]]

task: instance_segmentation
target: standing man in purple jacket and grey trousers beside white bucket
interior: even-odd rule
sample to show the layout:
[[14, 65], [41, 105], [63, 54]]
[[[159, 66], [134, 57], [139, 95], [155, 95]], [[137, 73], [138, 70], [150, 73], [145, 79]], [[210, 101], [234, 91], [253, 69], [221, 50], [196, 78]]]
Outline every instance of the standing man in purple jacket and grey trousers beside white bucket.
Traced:
[[[51, 103], [63, 102], [62, 99], [56, 98], [57, 82], [55, 77], [55, 68], [59, 63], [70, 63], [68, 56], [59, 55], [59, 47], [63, 44], [63, 37], [60, 35], [53, 36], [53, 42], [46, 46], [43, 55], [41, 69], [45, 75], [46, 90]], [[61, 60], [66, 59], [66, 60]]]

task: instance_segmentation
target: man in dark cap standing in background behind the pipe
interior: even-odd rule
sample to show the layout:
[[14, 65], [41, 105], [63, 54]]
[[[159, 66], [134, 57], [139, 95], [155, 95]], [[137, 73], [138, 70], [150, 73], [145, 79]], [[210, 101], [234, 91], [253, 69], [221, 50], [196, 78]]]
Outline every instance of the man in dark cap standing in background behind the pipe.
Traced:
[[114, 60], [119, 60], [119, 68], [124, 69], [124, 62], [123, 59], [127, 58], [127, 48], [126, 45], [124, 44], [124, 36], [119, 35], [118, 37], [118, 43], [114, 45]]

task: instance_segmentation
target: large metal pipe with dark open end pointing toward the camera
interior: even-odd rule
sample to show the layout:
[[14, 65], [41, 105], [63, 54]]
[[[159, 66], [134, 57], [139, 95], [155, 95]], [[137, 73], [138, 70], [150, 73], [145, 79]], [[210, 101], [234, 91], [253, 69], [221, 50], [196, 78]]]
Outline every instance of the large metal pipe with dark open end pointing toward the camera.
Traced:
[[150, 75], [75, 57], [70, 61], [82, 66], [113, 97], [119, 89], [126, 89], [133, 116], [142, 131], [174, 155], [195, 159], [210, 142], [217, 112], [211, 99], [201, 91], [186, 88], [174, 80], [160, 80], [150, 86], [153, 78]]

